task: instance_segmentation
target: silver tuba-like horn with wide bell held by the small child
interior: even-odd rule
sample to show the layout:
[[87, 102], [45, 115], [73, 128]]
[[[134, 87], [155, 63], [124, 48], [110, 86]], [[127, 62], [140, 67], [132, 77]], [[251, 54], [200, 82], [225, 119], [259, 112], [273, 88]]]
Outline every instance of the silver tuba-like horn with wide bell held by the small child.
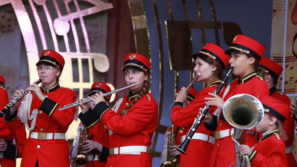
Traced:
[[235, 144], [237, 167], [251, 166], [247, 155], [240, 156], [238, 146], [244, 144], [247, 129], [259, 125], [264, 117], [264, 108], [260, 100], [249, 94], [237, 94], [230, 97], [223, 106], [226, 121], [234, 127], [231, 135]]

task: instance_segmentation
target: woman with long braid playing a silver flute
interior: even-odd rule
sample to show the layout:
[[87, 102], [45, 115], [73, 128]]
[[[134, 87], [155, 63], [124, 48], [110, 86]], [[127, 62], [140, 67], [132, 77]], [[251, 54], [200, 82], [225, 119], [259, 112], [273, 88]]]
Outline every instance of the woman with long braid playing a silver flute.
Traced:
[[151, 166], [148, 152], [157, 127], [158, 106], [149, 93], [150, 62], [143, 55], [130, 53], [122, 70], [127, 85], [141, 84], [131, 87], [131, 92], [118, 100], [113, 110], [104, 102], [103, 93], [96, 93], [89, 97], [96, 104], [94, 110], [82, 110], [79, 118], [95, 136], [102, 133], [98, 128], [92, 130], [97, 122], [109, 129], [111, 148], [106, 166]]

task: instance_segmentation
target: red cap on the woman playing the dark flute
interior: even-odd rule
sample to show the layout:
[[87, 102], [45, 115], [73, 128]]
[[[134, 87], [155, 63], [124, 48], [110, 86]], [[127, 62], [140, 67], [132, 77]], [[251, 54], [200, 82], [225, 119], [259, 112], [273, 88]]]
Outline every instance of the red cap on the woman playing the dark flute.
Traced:
[[198, 56], [213, 59], [217, 64], [219, 64], [222, 70], [224, 70], [228, 65], [230, 59], [222, 48], [211, 42], [208, 42], [205, 46], [203, 46], [200, 52], [194, 54], [193, 59], [196, 60]]

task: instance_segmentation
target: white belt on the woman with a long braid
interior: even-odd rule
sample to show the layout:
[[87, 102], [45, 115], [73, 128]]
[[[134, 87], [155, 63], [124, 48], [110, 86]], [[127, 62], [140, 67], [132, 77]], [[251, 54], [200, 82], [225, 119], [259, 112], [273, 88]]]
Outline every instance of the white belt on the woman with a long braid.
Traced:
[[119, 147], [109, 148], [109, 155], [116, 155], [116, 154], [140, 155], [140, 152], [149, 152], [148, 147], [147, 146], [123, 146], [123, 147], [120, 147], [120, 153], [119, 153]]

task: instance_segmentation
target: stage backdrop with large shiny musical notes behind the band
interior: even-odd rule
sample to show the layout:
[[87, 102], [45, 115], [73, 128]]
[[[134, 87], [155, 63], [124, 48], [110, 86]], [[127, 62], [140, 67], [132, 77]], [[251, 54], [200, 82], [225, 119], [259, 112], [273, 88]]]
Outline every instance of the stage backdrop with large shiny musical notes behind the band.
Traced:
[[[151, 61], [151, 93], [159, 105], [149, 152], [153, 166], [159, 166], [176, 89], [193, 78], [192, 54], [205, 43], [227, 49], [236, 34], [259, 41], [266, 47], [264, 56], [284, 66], [278, 88], [296, 96], [295, 4], [294, 0], [0, 1], [0, 74], [11, 97], [15, 89], [38, 79], [35, 63], [41, 51], [56, 50], [66, 60], [61, 85], [74, 88], [82, 98], [94, 81], [125, 86], [121, 72], [125, 55], [145, 55]], [[92, 12], [86, 13], [88, 9]], [[194, 88], [199, 92], [203, 86], [195, 83]], [[67, 132], [70, 146], [78, 123], [76, 115]]]

